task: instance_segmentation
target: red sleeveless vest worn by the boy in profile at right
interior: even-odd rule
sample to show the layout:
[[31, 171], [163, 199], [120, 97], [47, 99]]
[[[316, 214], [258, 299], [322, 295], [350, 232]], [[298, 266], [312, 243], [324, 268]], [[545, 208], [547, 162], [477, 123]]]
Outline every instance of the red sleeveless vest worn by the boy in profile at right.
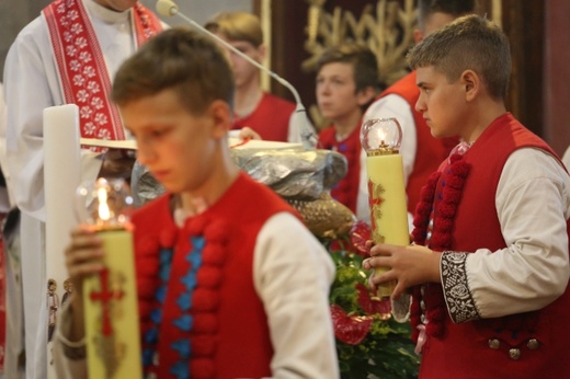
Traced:
[[[443, 182], [449, 184], [449, 181], [457, 179], [457, 175], [453, 177], [449, 174], [453, 164], [442, 164], [434, 194], [436, 214], [434, 237], [430, 243], [433, 249], [472, 252], [481, 246], [491, 251], [506, 246], [494, 207], [495, 192], [508, 158], [523, 147], [543, 149], [557, 157], [542, 139], [510, 114], [499, 117], [486, 129], [463, 159], [455, 162], [469, 166], [455, 217], [442, 215], [454, 211], [449, 207], [440, 206], [446, 202], [446, 193], [442, 191]], [[443, 198], [438, 198], [438, 194], [443, 194]], [[474, 229], [474, 226], [477, 227]], [[453, 233], [442, 230], [448, 228]], [[570, 230], [570, 222], [567, 222], [567, 230]], [[435, 236], [438, 236], [436, 240]], [[414, 237], [419, 237], [415, 231]], [[412, 307], [414, 328], [419, 322], [418, 312], [421, 312], [418, 294], [417, 290]], [[426, 332], [430, 335], [423, 346], [422, 378], [554, 378], [570, 371], [570, 360], [567, 359], [570, 356], [570, 332], [568, 329], [554, 328], [560, 320], [570, 318], [568, 287], [560, 298], [539, 311], [460, 324], [449, 319], [440, 285], [428, 285], [422, 298], [425, 301]], [[531, 340], [539, 342], [538, 349], [529, 347]], [[492, 341], [495, 348], [491, 348]], [[510, 358], [511, 349], [520, 352], [520, 359]]]

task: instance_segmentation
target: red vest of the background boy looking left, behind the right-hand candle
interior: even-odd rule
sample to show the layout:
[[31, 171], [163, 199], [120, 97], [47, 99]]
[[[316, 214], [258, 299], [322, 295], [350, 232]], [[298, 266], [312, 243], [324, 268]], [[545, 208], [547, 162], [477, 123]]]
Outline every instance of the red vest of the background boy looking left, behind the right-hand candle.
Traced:
[[[358, 126], [361, 124], [362, 120], [358, 122]], [[349, 136], [339, 141], [337, 140], [337, 129], [333, 125], [319, 133], [319, 146], [322, 149], [338, 151], [346, 158], [346, 175], [331, 190], [331, 196], [354, 214], [356, 214], [361, 175], [362, 145], [360, 135], [360, 127], [355, 127]]]

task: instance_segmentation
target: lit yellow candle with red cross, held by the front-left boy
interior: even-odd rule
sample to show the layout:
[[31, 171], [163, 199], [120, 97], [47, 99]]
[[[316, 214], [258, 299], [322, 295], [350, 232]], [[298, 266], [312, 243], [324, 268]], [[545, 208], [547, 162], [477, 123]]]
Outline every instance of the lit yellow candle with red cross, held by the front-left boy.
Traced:
[[89, 378], [141, 378], [138, 303], [129, 213], [123, 180], [78, 188], [81, 221], [103, 239], [104, 268], [83, 283]]

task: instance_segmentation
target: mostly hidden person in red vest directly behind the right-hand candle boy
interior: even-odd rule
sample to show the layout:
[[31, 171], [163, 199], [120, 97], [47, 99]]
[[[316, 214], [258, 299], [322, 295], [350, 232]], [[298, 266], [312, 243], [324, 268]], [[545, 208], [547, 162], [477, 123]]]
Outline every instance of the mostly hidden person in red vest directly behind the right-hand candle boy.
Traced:
[[[419, 0], [418, 28], [413, 38], [419, 44], [426, 35], [458, 16], [474, 13], [476, 0]], [[400, 154], [403, 160], [408, 211], [413, 214], [420, 199], [420, 191], [428, 176], [447, 157], [457, 138], [435, 139], [430, 135], [420, 112], [414, 110], [420, 91], [412, 71], [383, 91], [366, 110], [364, 120], [396, 117], [402, 128]]]

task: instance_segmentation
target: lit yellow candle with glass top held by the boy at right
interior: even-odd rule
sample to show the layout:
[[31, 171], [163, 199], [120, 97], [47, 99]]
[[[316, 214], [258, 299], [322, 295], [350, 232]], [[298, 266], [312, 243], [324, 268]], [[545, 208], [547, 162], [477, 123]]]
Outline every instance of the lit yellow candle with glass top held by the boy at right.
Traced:
[[[402, 130], [396, 118], [375, 118], [363, 124], [361, 142], [366, 151], [368, 205], [375, 243], [408, 245], [408, 208], [403, 163], [399, 154]], [[381, 274], [386, 268], [377, 268]], [[394, 284], [380, 286], [378, 296], [390, 297]]]

